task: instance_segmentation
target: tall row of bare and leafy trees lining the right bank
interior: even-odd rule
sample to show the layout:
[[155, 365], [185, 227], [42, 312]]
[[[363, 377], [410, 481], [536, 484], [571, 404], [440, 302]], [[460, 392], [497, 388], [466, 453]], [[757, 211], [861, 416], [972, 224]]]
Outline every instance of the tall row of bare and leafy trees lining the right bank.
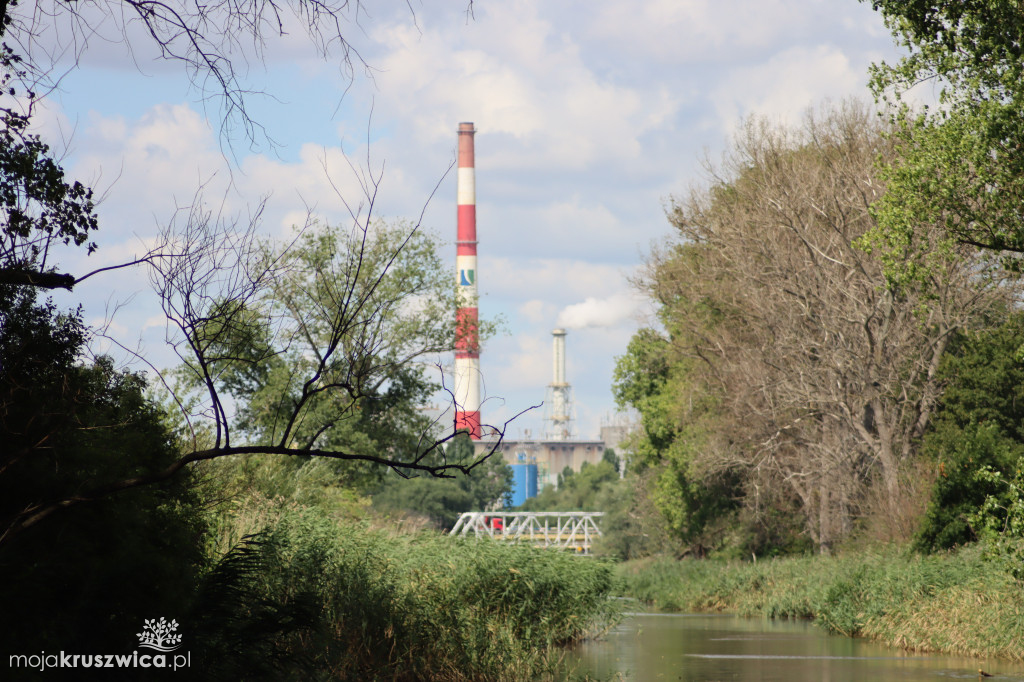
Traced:
[[[913, 48], [879, 110], [750, 120], [638, 286], [614, 390], [677, 551], [925, 551], [1024, 535], [1024, 20], [877, 2]], [[942, 106], [903, 103], [931, 81]]]

